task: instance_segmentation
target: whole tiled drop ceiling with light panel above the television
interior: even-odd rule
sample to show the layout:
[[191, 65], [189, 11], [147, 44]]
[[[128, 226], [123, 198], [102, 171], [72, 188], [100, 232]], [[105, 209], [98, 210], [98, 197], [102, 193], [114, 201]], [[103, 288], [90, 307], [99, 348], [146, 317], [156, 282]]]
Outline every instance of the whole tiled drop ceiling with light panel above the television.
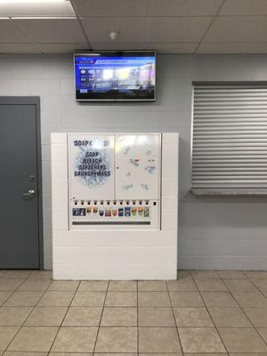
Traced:
[[0, 0], [0, 53], [267, 53], [267, 0], [43, 1]]

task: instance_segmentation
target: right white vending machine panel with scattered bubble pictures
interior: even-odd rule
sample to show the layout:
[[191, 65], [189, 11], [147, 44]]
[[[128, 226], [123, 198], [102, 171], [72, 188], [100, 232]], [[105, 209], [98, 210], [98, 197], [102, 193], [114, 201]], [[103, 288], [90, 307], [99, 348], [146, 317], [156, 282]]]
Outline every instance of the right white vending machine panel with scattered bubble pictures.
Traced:
[[116, 198], [159, 199], [160, 135], [116, 135]]

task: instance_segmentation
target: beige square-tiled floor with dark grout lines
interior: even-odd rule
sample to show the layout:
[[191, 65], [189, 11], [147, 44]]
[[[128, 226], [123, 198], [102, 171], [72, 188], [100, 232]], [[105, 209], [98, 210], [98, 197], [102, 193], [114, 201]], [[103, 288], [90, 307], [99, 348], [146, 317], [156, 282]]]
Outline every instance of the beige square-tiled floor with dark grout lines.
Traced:
[[0, 271], [0, 356], [93, 353], [267, 356], [267, 271], [179, 271], [166, 281]]

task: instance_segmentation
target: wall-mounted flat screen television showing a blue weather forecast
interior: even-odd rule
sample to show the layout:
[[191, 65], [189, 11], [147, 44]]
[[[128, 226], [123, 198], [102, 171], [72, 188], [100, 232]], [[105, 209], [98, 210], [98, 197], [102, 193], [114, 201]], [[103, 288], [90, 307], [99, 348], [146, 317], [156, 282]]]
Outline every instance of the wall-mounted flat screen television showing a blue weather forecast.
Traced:
[[156, 53], [74, 53], [77, 101], [155, 101]]

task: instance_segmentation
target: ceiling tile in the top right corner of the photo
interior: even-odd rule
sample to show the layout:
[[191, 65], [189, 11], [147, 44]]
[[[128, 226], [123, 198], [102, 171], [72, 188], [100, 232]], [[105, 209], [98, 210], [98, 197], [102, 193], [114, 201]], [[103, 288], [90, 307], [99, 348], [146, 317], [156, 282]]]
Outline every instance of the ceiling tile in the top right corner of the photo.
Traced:
[[220, 15], [267, 15], [266, 0], [227, 0]]

